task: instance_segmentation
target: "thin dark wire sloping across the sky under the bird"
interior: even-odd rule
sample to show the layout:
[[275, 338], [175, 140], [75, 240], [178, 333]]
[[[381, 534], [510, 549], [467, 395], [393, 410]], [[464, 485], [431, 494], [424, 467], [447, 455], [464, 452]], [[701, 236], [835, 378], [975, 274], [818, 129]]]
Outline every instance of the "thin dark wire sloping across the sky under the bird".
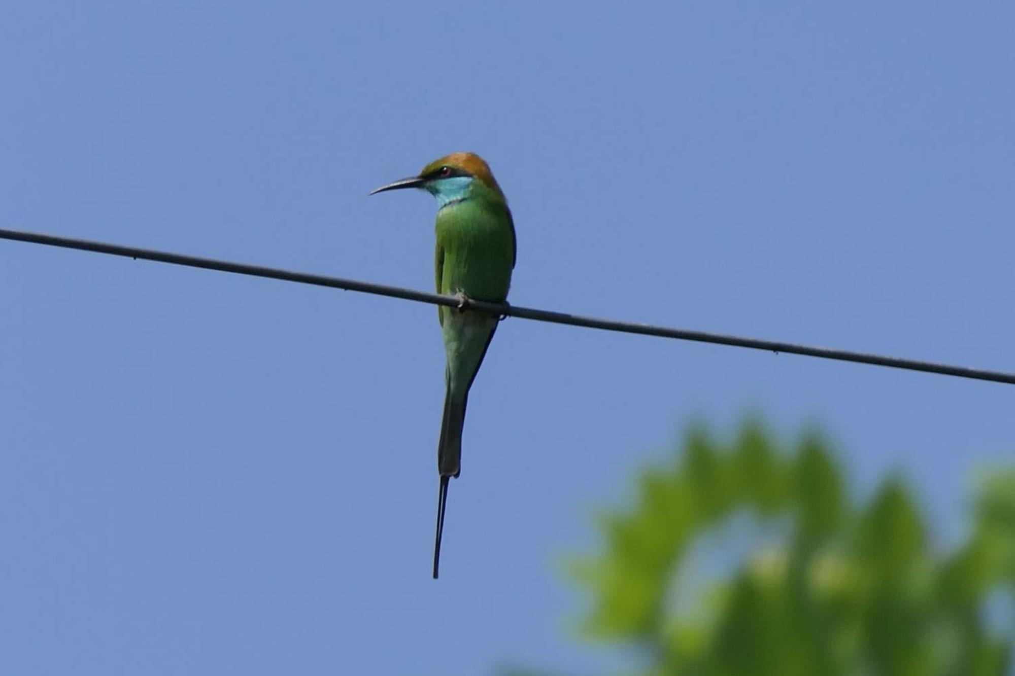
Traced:
[[[31, 244], [46, 245], [49, 247], [78, 249], [98, 254], [111, 254], [113, 256], [124, 256], [133, 259], [158, 261], [159, 263], [186, 265], [192, 268], [232, 272], [240, 275], [267, 277], [269, 279], [282, 279], [299, 284], [328, 286], [330, 288], [340, 288], [346, 291], [360, 291], [362, 293], [373, 293], [375, 295], [387, 295], [393, 298], [415, 300], [417, 302], [429, 302], [437, 306], [449, 306], [453, 308], [463, 306], [463, 300], [452, 295], [428, 293], [426, 291], [416, 291], [398, 286], [386, 286], [384, 284], [375, 284], [355, 279], [343, 279], [342, 277], [328, 277], [325, 275], [315, 275], [307, 272], [294, 272], [291, 270], [281, 270], [279, 268], [268, 268], [261, 265], [232, 263], [230, 261], [200, 258], [197, 256], [185, 256], [183, 254], [173, 254], [170, 252], [154, 251], [151, 249], [124, 247], [121, 245], [106, 244], [104, 242], [74, 240], [71, 238], [55, 236], [52, 234], [41, 234], [38, 232], [25, 232], [22, 230], [8, 230], [2, 228], [0, 228], [0, 240], [29, 242]], [[902, 368], [905, 370], [920, 370], [928, 374], [939, 374], [942, 376], [954, 376], [956, 378], [968, 378], [978, 381], [992, 381], [994, 383], [1008, 383], [1010, 385], [1015, 385], [1015, 374], [1006, 374], [997, 370], [984, 370], [980, 368], [968, 368], [966, 366], [953, 366], [945, 363], [934, 363], [932, 361], [919, 361], [916, 359], [903, 359], [900, 357], [883, 356], [880, 354], [868, 354], [864, 352], [852, 352], [850, 350], [838, 350], [827, 347], [784, 343], [775, 340], [741, 338], [739, 336], [729, 336], [721, 333], [673, 329], [663, 326], [653, 326], [651, 324], [618, 322], [615, 320], [568, 315], [566, 313], [555, 313], [547, 310], [536, 310], [534, 308], [522, 308], [520, 306], [486, 302], [483, 300], [474, 300], [472, 298], [468, 298], [464, 301], [463, 309], [475, 310], [498, 316], [520, 317], [522, 319], [530, 319], [537, 322], [567, 324], [570, 326], [581, 326], [589, 329], [602, 329], [604, 331], [619, 331], [622, 333], [637, 333], [645, 336], [658, 336], [660, 338], [693, 340], [701, 343], [734, 345], [736, 347], [749, 347], [752, 349], [767, 350], [770, 352], [805, 354], [807, 356], [821, 357], [823, 359], [856, 361], [858, 363], [870, 363], [877, 366], [891, 366], [893, 368]]]

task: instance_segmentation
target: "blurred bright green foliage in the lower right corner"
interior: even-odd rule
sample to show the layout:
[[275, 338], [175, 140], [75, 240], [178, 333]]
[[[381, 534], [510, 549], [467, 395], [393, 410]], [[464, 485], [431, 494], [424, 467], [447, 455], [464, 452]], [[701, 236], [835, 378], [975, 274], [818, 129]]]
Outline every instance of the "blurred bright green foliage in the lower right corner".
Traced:
[[[695, 425], [574, 562], [582, 627], [638, 649], [632, 673], [1006, 674], [1012, 627], [985, 608], [1015, 615], [1015, 470], [984, 482], [974, 516], [961, 546], [935, 552], [901, 478], [856, 501], [819, 434], [782, 449], [754, 420], [728, 444]], [[748, 553], [702, 563], [709, 542]]]

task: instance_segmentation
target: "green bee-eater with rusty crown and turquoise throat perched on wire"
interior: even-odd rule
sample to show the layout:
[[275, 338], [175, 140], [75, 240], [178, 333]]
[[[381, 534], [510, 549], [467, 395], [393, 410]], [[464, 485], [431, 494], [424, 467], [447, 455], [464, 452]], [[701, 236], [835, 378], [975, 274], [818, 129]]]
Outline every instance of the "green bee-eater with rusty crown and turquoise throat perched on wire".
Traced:
[[[378, 188], [420, 188], [437, 200], [437, 293], [504, 302], [515, 268], [515, 223], [507, 200], [483, 158], [456, 152], [430, 162], [419, 176]], [[445, 369], [444, 421], [437, 442], [437, 526], [433, 543], [433, 579], [441, 563], [441, 536], [448, 504], [448, 481], [461, 472], [462, 425], [469, 388], [497, 329], [496, 317], [441, 306], [448, 366]]]

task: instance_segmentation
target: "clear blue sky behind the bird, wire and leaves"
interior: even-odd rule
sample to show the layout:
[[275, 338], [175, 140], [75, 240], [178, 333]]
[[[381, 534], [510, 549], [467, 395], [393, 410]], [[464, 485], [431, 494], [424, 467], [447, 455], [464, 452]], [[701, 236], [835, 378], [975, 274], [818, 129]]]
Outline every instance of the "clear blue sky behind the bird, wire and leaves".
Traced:
[[[519, 305], [1015, 369], [1006, 3], [26, 2], [0, 226], [429, 289], [491, 163]], [[1015, 389], [511, 319], [443, 578], [431, 307], [0, 243], [0, 671], [596, 672], [561, 557], [694, 416], [821, 424], [942, 539]]]

